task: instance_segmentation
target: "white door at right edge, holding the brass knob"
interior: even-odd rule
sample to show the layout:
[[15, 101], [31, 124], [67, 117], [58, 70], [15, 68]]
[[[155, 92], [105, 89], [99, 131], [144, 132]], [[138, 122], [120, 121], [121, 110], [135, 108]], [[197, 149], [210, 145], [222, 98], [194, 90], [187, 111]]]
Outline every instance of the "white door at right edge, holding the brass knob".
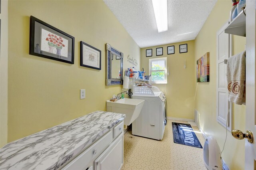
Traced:
[[256, 0], [246, 0], [246, 130], [251, 130], [254, 135], [252, 144], [245, 140], [246, 170], [256, 169], [255, 10]]

